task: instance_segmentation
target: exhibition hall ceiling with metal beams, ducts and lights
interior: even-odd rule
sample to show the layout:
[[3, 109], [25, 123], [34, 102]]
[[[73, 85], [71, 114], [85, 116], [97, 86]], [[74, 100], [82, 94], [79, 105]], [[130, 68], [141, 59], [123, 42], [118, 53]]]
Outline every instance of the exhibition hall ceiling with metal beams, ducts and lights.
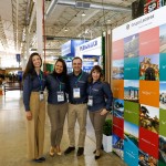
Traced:
[[[0, 0], [0, 55], [37, 51], [37, 1]], [[71, 39], [94, 39], [131, 21], [134, 1], [43, 1], [46, 56], [61, 55], [61, 45]]]

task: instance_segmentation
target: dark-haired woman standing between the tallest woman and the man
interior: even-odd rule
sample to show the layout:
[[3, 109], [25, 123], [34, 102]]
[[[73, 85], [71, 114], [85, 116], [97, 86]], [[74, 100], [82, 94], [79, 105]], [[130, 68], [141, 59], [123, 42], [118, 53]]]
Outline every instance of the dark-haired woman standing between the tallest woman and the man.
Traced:
[[50, 155], [61, 155], [60, 143], [63, 134], [63, 125], [68, 112], [66, 103], [66, 64], [59, 59], [54, 64], [54, 71], [46, 77], [48, 87], [48, 115], [51, 123], [51, 148]]

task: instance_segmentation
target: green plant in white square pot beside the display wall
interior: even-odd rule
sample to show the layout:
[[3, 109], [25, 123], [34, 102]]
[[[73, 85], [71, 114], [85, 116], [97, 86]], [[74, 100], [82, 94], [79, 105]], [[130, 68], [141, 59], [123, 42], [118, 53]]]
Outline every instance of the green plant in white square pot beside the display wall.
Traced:
[[103, 146], [105, 152], [112, 152], [112, 120], [105, 120], [103, 125]]

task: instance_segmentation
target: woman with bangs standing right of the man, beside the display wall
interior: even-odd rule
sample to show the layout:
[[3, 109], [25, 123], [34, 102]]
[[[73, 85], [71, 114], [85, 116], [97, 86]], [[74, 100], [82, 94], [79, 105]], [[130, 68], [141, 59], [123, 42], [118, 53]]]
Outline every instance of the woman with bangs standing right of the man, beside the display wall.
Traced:
[[103, 141], [103, 124], [106, 115], [111, 110], [113, 94], [108, 83], [104, 82], [102, 69], [100, 65], [94, 65], [89, 77], [89, 114], [95, 132], [96, 149], [95, 159], [101, 157], [101, 148]]

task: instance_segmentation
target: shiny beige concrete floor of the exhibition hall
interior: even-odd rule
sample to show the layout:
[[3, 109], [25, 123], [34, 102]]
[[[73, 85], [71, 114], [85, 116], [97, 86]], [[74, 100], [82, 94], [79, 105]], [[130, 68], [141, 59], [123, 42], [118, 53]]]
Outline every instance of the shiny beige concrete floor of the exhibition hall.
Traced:
[[[123, 160], [112, 153], [103, 153], [103, 156], [98, 160], [94, 159], [94, 134], [89, 118], [84, 156], [76, 157], [74, 153], [66, 156], [49, 156], [50, 123], [46, 116], [44, 146], [46, 162], [38, 164], [28, 160], [24, 122], [24, 108], [20, 91], [8, 92], [6, 96], [0, 96], [0, 166], [125, 166]], [[69, 141], [65, 123], [62, 151], [68, 146]]]

